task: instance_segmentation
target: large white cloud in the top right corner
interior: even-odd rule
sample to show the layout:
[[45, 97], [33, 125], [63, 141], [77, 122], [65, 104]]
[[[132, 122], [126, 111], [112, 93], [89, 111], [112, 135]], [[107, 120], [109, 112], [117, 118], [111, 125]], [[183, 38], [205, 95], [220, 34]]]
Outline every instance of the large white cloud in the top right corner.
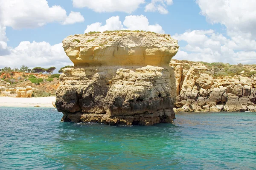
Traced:
[[227, 27], [230, 37], [256, 38], [255, 0], [197, 0], [207, 20]]

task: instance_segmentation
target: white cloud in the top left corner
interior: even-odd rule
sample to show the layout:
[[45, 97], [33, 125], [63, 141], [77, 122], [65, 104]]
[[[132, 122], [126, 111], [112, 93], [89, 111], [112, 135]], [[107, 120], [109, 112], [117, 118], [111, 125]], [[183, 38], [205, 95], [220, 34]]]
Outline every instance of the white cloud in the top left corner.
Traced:
[[[49, 7], [46, 0], [0, 0], [0, 11], [3, 26], [14, 29], [34, 28], [53, 22], [73, 24], [82, 21], [80, 13], [71, 12], [67, 16], [61, 6]], [[79, 20], [71, 22], [74, 15], [79, 16]]]

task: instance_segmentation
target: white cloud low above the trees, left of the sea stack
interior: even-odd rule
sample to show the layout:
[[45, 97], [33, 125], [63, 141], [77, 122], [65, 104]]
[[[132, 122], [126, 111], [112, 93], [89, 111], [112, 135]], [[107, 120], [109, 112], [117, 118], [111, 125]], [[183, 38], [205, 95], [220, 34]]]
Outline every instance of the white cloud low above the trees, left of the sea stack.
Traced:
[[23, 41], [11, 50], [6, 56], [0, 56], [0, 68], [20, 67], [26, 65], [29, 68], [55, 66], [61, 68], [65, 65], [72, 65], [72, 62], [65, 54], [62, 43], [50, 45], [48, 42]]

